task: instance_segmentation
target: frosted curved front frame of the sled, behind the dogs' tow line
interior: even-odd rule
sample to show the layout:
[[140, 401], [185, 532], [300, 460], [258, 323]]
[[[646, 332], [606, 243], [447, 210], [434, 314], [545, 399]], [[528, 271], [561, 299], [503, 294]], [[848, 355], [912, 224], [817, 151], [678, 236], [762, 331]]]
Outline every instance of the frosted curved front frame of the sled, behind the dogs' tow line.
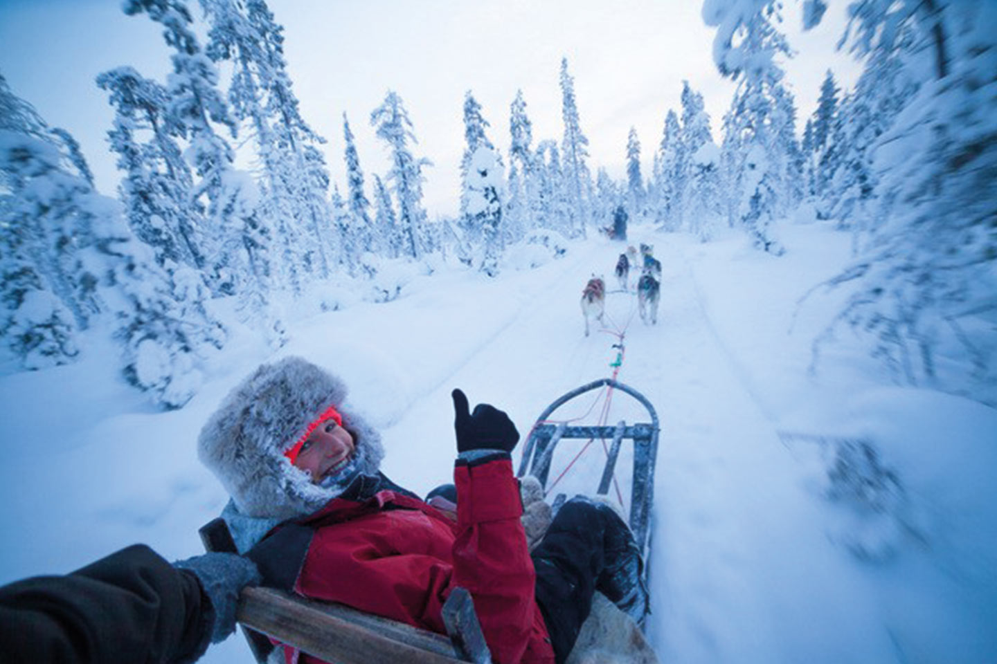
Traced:
[[[553, 424], [547, 421], [550, 414], [567, 401], [604, 385], [629, 394], [636, 399], [647, 409], [651, 421], [628, 425], [621, 420], [614, 426], [568, 426], [565, 423]], [[587, 385], [582, 385], [562, 395], [540, 413], [529, 438], [526, 440], [516, 476], [523, 477], [528, 473], [539, 480], [540, 486], [546, 489], [547, 478], [550, 474], [550, 461], [553, 458], [554, 449], [560, 441], [565, 438], [611, 440], [606, 465], [602, 471], [602, 479], [595, 492], [597, 496], [605, 496], [612, 483], [616, 460], [619, 457], [623, 440], [632, 440], [634, 446], [633, 489], [630, 495], [629, 525], [644, 559], [648, 560], [651, 548], [651, 508], [654, 505], [654, 467], [658, 457], [659, 432], [658, 413], [647, 397], [633, 387], [612, 378], [593, 380]], [[563, 500], [563, 494], [557, 496], [553, 505], [555, 510], [560, 507]]]

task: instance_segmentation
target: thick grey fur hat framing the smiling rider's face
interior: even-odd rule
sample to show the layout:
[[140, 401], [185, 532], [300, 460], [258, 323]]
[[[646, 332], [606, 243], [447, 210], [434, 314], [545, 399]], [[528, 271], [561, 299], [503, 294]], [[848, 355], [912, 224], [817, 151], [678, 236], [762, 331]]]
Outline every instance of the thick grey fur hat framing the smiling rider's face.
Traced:
[[[247, 517], [290, 519], [320, 509], [358, 474], [376, 475], [381, 436], [344, 406], [346, 384], [301, 357], [262, 364], [226, 396], [204, 424], [197, 456]], [[284, 451], [308, 424], [334, 406], [353, 434], [356, 452], [332, 482], [311, 482]]]

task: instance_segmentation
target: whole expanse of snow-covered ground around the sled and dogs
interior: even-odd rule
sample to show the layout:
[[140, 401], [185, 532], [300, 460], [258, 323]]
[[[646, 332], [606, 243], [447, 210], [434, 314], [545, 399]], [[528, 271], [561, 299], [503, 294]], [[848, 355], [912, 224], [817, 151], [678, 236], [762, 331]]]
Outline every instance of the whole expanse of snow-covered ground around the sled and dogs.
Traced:
[[[383, 470], [425, 493], [450, 479], [452, 388], [525, 433], [557, 396], [611, 374], [625, 332], [618, 379], [661, 420], [649, 636], [662, 662], [997, 661], [997, 411], [893, 386], [848, 338], [810, 372], [845, 293], [800, 299], [840, 268], [849, 238], [779, 233], [788, 251], [774, 258], [742, 235], [700, 244], [631, 227], [663, 265], [654, 327], [632, 293], [612, 292], [623, 245], [592, 237], [535, 269], [514, 269], [521, 256], [497, 279], [444, 267], [393, 302], [292, 321], [279, 354], [341, 374], [384, 431]], [[585, 337], [578, 298], [592, 273], [611, 291], [607, 332]], [[193, 400], [156, 412], [102, 348], [86, 351], [0, 378], [0, 582], [135, 542], [200, 553], [196, 530], [226, 497], [196, 459], [197, 432], [270, 358], [233, 339]], [[597, 413], [590, 395], [577, 407]], [[617, 394], [607, 419], [639, 416]], [[592, 486], [601, 451], [586, 454], [557, 491]], [[619, 479], [625, 495], [625, 468]], [[233, 637], [204, 661], [251, 656]]]

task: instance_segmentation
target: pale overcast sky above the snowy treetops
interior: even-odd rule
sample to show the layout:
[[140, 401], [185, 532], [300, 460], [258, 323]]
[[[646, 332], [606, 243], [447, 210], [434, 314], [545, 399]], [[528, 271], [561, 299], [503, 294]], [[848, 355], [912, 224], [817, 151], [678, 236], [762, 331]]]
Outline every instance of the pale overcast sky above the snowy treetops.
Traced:
[[[533, 144], [561, 137], [558, 74], [567, 57], [593, 174], [624, 174], [627, 133], [635, 126], [644, 172], [668, 109], [680, 111], [682, 80], [699, 90], [719, 138], [734, 85], [716, 72], [714, 30], [698, 0], [270, 0], [285, 27], [294, 90], [307, 121], [328, 139], [333, 180], [345, 189], [342, 114], [356, 134], [367, 174], [388, 168], [370, 112], [395, 90], [415, 125], [417, 156], [429, 157], [426, 204], [431, 214], [459, 206], [464, 149], [463, 106], [474, 92], [491, 122], [489, 136], [508, 146], [509, 104], [521, 89], [533, 122]], [[813, 112], [825, 71], [845, 85], [856, 66], [834, 45], [845, 2], [817, 29], [800, 34], [790, 2], [786, 29], [796, 58], [787, 65], [800, 117]], [[190, 3], [200, 18], [199, 5]], [[159, 26], [128, 17], [118, 0], [0, 0], [0, 73], [14, 93], [53, 126], [69, 129], [91, 161], [98, 187], [114, 194], [119, 179], [106, 132], [113, 111], [94, 83], [131, 65], [165, 80], [169, 51]], [[800, 122], [802, 129], [803, 122]]]

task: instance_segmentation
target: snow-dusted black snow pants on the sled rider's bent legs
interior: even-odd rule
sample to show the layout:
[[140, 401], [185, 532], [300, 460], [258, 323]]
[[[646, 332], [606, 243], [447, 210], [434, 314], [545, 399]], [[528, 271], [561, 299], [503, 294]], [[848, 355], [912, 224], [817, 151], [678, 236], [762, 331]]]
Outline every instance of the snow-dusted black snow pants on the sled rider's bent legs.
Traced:
[[536, 602], [557, 664], [570, 654], [595, 590], [637, 620], [647, 610], [643, 562], [633, 534], [606, 505], [580, 496], [566, 502], [531, 556]]

